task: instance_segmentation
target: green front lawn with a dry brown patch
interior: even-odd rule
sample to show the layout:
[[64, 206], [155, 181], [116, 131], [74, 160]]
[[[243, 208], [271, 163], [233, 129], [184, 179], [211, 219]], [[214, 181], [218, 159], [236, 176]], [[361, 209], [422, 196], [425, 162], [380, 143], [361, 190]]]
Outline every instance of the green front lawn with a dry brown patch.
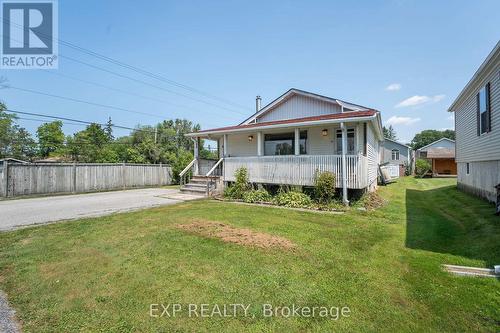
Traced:
[[[500, 218], [450, 179], [382, 187], [372, 212], [317, 214], [196, 201], [0, 234], [0, 289], [25, 332], [499, 331], [500, 281], [440, 265], [500, 264]], [[259, 249], [176, 227], [222, 222], [280, 236]], [[249, 317], [152, 318], [151, 303], [251, 304]], [[262, 315], [261, 304], [350, 309]]]

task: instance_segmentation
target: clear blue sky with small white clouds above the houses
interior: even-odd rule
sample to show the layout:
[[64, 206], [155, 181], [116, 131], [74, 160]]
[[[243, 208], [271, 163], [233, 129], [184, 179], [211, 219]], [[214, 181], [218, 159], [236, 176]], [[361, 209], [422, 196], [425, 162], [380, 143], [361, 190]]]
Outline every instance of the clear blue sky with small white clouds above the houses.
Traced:
[[[64, 56], [160, 88], [64, 58], [51, 73], [2, 70], [0, 76], [13, 87], [157, 116], [12, 89], [0, 90], [0, 99], [15, 110], [95, 122], [105, 122], [110, 116], [116, 124], [134, 126], [154, 124], [161, 118], [187, 118], [210, 128], [246, 118], [254, 110], [256, 95], [267, 104], [295, 87], [376, 108], [384, 124], [393, 124], [398, 138], [408, 142], [423, 129], [453, 128], [447, 107], [498, 41], [499, 12], [496, 0], [60, 0], [62, 40], [242, 107], [155, 81], [62, 45], [59, 53]], [[30, 131], [40, 124], [20, 123]], [[68, 124], [64, 129], [69, 134], [82, 127]]]

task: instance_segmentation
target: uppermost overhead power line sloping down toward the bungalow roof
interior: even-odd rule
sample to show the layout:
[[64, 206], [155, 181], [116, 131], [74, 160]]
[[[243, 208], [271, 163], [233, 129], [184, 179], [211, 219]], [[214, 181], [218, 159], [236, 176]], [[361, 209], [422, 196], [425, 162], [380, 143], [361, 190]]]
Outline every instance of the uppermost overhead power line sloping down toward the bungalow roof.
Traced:
[[[22, 27], [20, 24], [17, 24], [17, 23], [15, 23], [15, 22], [11, 22], [9, 19], [6, 19], [6, 18], [2, 18], [2, 19], [3, 19], [3, 20], [6, 20], [6, 21], [9, 21], [11, 25], [17, 25], [19, 28], [24, 28], [24, 27]], [[48, 35], [48, 34], [44, 34], [44, 33], [41, 33], [41, 34], [42, 34], [42, 35], [45, 35], [46, 37], [52, 37], [52, 36], [50, 36], [50, 35]], [[113, 59], [113, 58], [111, 58], [111, 57], [108, 57], [108, 56], [102, 55], [102, 54], [100, 54], [100, 53], [94, 52], [94, 51], [92, 51], [92, 50], [89, 50], [89, 49], [83, 48], [83, 47], [81, 47], [81, 46], [78, 46], [78, 45], [76, 45], [76, 44], [73, 44], [73, 43], [70, 43], [70, 42], [66, 42], [66, 41], [64, 41], [64, 40], [62, 40], [62, 39], [59, 39], [59, 38], [57, 38], [57, 41], [59, 42], [59, 44], [62, 44], [62, 45], [64, 45], [64, 46], [67, 46], [67, 47], [69, 47], [69, 48], [72, 48], [72, 49], [74, 49], [74, 50], [77, 50], [77, 51], [79, 51], [79, 52], [85, 53], [85, 54], [87, 54], [87, 55], [93, 56], [93, 57], [98, 58], [98, 59], [100, 59], [100, 60], [104, 60], [104, 61], [106, 61], [106, 62], [112, 63], [112, 64], [114, 64], [114, 65], [116, 65], [116, 66], [120, 66], [120, 67], [123, 67], [123, 68], [129, 69], [129, 70], [132, 70], [132, 71], [134, 71], [134, 72], [140, 73], [140, 74], [142, 74], [142, 75], [144, 75], [144, 76], [148, 76], [148, 77], [154, 78], [154, 79], [156, 79], [156, 80], [159, 80], [159, 81], [162, 81], [162, 82], [165, 82], [165, 83], [168, 83], [168, 84], [174, 85], [174, 86], [176, 86], [176, 87], [183, 88], [183, 89], [186, 89], [186, 90], [188, 90], [188, 91], [191, 91], [191, 92], [194, 92], [194, 93], [197, 93], [197, 94], [203, 95], [203, 96], [205, 96], [205, 97], [209, 97], [209, 98], [212, 98], [212, 99], [215, 99], [215, 100], [219, 100], [219, 101], [224, 102], [224, 103], [226, 103], [226, 104], [233, 105], [233, 106], [237, 106], [237, 107], [243, 108], [243, 109], [245, 109], [245, 110], [248, 110], [248, 108], [247, 108], [246, 106], [242, 106], [242, 105], [240, 105], [240, 104], [238, 104], [238, 103], [234, 103], [234, 102], [229, 101], [229, 100], [227, 100], [227, 99], [225, 99], [225, 98], [220, 98], [220, 97], [217, 97], [217, 96], [215, 96], [215, 95], [212, 95], [212, 94], [206, 93], [206, 92], [204, 92], [204, 91], [202, 91], [202, 90], [199, 90], [199, 89], [197, 89], [197, 88], [194, 88], [194, 87], [188, 86], [188, 85], [186, 85], [186, 84], [182, 84], [182, 83], [176, 82], [176, 81], [174, 81], [174, 80], [168, 79], [168, 78], [166, 78], [166, 77], [164, 77], [164, 76], [161, 76], [161, 75], [158, 75], [158, 74], [154, 74], [154, 73], [152, 73], [152, 72], [150, 72], [150, 71], [147, 71], [147, 70], [141, 69], [141, 68], [139, 68], [139, 67], [136, 67], [136, 66], [133, 66], [133, 65], [126, 64], [126, 63], [121, 62], [121, 61], [119, 61], [119, 60]], [[188, 97], [188, 96], [186, 96], [186, 95], [184, 95], [184, 96], [185, 96], [185, 97], [187, 97], [187, 98], [190, 98], [190, 97]], [[219, 106], [219, 107], [220, 107], [220, 106]]]

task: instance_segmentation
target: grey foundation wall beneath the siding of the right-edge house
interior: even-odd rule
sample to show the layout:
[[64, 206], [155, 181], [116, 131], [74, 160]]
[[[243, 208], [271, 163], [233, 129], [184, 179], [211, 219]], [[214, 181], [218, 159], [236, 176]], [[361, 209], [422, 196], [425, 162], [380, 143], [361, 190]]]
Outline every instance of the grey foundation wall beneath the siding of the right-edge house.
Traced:
[[467, 174], [467, 163], [457, 163], [457, 171], [460, 189], [495, 202], [494, 186], [500, 184], [500, 160], [469, 162], [469, 174]]

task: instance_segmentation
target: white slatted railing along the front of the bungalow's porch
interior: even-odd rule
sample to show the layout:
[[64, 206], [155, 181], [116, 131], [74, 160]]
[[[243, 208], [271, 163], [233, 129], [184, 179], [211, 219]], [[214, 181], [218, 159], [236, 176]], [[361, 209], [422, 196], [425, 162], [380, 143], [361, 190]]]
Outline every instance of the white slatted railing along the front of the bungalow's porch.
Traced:
[[[347, 155], [347, 187], [368, 186], [368, 160], [363, 155]], [[316, 171], [330, 171], [342, 187], [341, 155], [287, 155], [227, 157], [224, 159], [224, 181], [235, 181], [234, 173], [245, 167], [252, 183], [314, 185]]]

